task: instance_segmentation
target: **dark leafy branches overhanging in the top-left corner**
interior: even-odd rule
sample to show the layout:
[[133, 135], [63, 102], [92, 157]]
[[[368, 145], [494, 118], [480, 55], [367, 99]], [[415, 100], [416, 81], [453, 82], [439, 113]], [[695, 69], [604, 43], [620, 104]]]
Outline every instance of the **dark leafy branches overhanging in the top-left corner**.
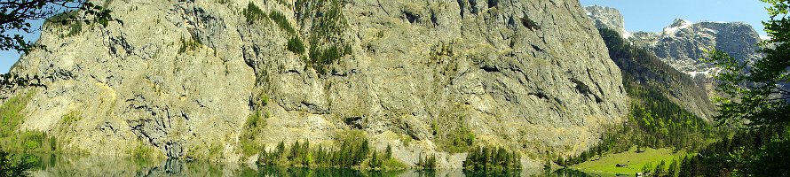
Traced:
[[[61, 12], [75, 10], [79, 11], [75, 16], [51, 18]], [[98, 23], [104, 27], [107, 27], [110, 21], [122, 23], [120, 19], [113, 19], [111, 13], [112, 11], [104, 6], [93, 4], [88, 0], [0, 0], [0, 50], [28, 52], [33, 49], [34, 44], [25, 40], [24, 36], [8, 33], [13, 31], [33, 33], [39, 30], [30, 24], [33, 20], [46, 19], [48, 22], [61, 24]]]

